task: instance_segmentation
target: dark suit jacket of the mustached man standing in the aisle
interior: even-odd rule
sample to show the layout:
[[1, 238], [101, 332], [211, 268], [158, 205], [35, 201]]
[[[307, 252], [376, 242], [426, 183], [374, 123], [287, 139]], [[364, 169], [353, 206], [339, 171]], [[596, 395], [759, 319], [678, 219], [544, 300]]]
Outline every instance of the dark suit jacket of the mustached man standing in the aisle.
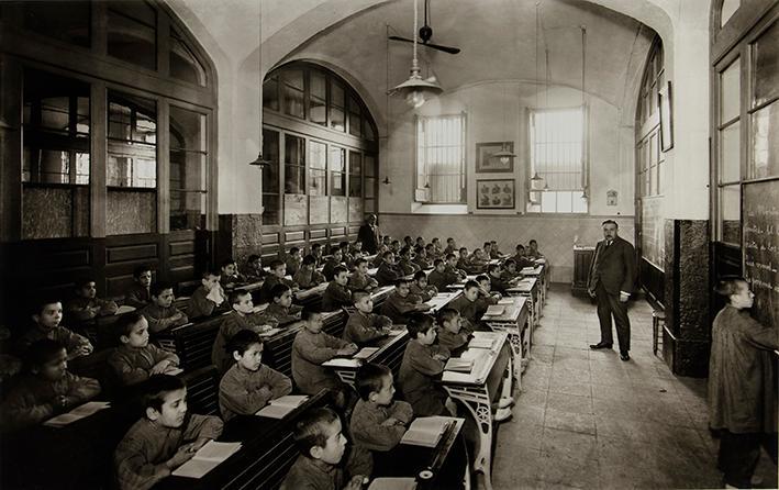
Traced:
[[594, 291], [598, 282], [601, 282], [609, 294], [619, 294], [620, 291], [632, 293], [635, 275], [636, 258], [633, 245], [619, 236], [609, 246], [605, 246], [605, 240], [598, 242], [590, 266], [590, 290]]

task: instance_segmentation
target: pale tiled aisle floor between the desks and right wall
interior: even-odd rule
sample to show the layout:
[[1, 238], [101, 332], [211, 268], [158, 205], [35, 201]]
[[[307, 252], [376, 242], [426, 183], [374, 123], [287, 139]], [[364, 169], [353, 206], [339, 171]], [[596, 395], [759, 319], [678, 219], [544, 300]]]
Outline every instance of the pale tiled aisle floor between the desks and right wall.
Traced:
[[[590, 350], [594, 305], [549, 291], [514, 417], [498, 430], [496, 490], [722, 488], [708, 431], [705, 380], [671, 375], [652, 354], [652, 309], [631, 308], [632, 359]], [[616, 347], [616, 346], [615, 346]], [[777, 487], [765, 456], [763, 488]]]

